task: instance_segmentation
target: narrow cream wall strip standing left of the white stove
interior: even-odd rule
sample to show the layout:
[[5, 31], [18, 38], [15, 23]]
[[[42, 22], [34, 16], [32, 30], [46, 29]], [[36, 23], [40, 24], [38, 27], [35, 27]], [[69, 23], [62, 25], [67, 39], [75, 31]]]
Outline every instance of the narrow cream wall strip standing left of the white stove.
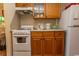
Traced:
[[6, 48], [7, 48], [8, 56], [12, 55], [12, 41], [11, 41], [10, 25], [14, 17], [14, 14], [15, 14], [15, 4], [4, 3]]

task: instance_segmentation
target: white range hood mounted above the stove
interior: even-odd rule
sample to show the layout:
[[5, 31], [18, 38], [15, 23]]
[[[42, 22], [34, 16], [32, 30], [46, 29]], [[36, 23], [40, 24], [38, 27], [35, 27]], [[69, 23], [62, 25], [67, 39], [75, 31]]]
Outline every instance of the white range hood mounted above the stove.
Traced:
[[20, 15], [32, 15], [33, 9], [32, 7], [16, 7], [16, 12]]

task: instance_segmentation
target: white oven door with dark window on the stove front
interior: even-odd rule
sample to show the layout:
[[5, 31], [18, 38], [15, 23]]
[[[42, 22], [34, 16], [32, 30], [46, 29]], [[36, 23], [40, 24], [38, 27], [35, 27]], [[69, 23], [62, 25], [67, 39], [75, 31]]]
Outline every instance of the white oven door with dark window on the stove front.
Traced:
[[30, 36], [14, 36], [13, 37], [13, 50], [14, 51], [31, 51]]

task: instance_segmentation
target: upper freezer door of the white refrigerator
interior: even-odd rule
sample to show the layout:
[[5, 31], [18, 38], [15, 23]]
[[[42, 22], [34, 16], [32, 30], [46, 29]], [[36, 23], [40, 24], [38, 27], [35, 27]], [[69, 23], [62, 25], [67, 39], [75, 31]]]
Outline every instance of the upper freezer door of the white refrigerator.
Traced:
[[[71, 20], [71, 24], [70, 25], [79, 25], [79, 5], [74, 5], [71, 8], [71, 16], [70, 19]], [[69, 25], [69, 26], [70, 26]]]

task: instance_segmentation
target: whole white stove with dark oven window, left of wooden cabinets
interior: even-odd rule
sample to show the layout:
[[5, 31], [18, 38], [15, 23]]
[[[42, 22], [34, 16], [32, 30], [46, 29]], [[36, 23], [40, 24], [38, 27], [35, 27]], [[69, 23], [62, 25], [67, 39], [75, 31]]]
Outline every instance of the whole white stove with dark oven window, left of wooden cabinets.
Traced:
[[30, 33], [30, 30], [12, 31], [13, 56], [31, 56]]

